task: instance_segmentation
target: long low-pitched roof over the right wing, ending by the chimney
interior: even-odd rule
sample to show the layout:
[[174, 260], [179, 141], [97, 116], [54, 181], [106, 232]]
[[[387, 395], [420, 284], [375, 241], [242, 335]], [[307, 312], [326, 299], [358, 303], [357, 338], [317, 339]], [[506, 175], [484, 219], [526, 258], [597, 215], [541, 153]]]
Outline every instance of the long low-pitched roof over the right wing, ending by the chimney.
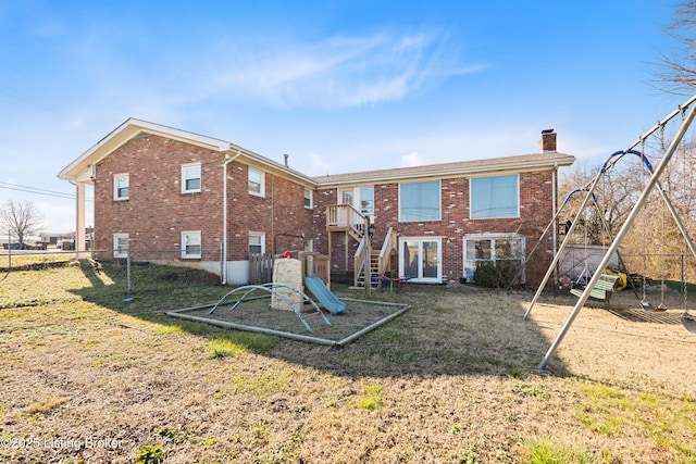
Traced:
[[570, 166], [575, 158], [558, 152], [521, 154], [515, 156], [490, 158], [485, 160], [459, 161], [453, 163], [428, 164], [424, 166], [398, 167], [391, 170], [365, 171], [314, 177], [320, 187], [368, 181], [422, 179], [428, 177], [457, 177], [489, 175], [506, 172], [538, 171]]

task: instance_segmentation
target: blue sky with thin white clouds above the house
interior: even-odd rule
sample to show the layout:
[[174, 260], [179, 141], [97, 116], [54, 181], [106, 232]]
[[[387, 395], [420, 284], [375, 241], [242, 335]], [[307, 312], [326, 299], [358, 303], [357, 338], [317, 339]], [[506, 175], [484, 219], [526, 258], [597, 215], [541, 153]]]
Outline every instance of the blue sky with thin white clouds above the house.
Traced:
[[598, 163], [685, 100], [654, 85], [673, 15], [661, 0], [2, 2], [0, 204], [74, 230], [70, 198], [8, 186], [74, 193], [58, 172], [132, 116], [309, 175], [534, 153], [546, 128]]

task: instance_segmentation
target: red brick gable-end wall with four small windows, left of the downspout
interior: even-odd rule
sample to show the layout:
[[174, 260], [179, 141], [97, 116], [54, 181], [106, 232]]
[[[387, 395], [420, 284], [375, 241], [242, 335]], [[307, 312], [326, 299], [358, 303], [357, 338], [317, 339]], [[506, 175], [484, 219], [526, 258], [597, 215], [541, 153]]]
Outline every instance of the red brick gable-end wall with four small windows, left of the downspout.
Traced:
[[[201, 191], [182, 193], [182, 165], [196, 162]], [[222, 162], [221, 153], [158, 136], [120, 147], [96, 166], [96, 248], [110, 250], [113, 234], [126, 233], [138, 258], [176, 259], [181, 233], [200, 230], [202, 259], [220, 260]], [[128, 200], [113, 200], [114, 174], [128, 174]], [[142, 250], [150, 253], [144, 258]]]

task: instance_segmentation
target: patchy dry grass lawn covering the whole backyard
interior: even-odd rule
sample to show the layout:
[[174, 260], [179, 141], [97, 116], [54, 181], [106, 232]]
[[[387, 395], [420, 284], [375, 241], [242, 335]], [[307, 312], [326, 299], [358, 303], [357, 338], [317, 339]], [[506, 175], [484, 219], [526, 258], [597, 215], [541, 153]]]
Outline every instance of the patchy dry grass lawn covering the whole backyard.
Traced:
[[[625, 291], [589, 303], [538, 371], [569, 294], [544, 294], [523, 322], [530, 291], [375, 291], [409, 311], [331, 348], [166, 316], [229, 288], [133, 274], [124, 301], [119, 265], [0, 272], [0, 462], [696, 462], [696, 336], [674, 290], [661, 314]], [[348, 301], [332, 327], [361, 311]]]

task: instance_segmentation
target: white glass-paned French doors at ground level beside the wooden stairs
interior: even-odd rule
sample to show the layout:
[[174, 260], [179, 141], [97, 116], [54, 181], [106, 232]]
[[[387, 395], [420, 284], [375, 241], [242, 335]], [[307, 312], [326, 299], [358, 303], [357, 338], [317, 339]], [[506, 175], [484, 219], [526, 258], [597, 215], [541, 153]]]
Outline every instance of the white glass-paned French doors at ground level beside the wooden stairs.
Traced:
[[399, 276], [419, 284], [443, 281], [442, 239], [405, 237], [399, 239]]

